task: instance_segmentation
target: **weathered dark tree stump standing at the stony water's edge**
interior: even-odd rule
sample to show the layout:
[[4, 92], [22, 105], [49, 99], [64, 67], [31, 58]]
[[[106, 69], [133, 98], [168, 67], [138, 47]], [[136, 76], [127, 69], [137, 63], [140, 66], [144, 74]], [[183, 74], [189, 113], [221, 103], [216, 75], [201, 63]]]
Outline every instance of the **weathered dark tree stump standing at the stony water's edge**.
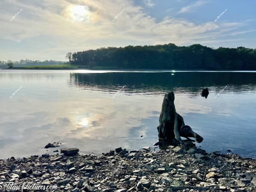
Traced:
[[201, 143], [203, 137], [188, 129], [186, 132], [182, 131], [180, 135], [180, 128], [185, 125], [182, 116], [180, 116], [175, 109], [174, 105], [174, 93], [166, 93], [163, 99], [162, 111], [160, 113], [159, 125], [157, 127], [159, 141], [168, 140], [171, 143], [183, 144], [184, 141], [180, 136], [185, 137], [188, 141], [195, 141], [189, 139], [189, 137], [194, 137], [197, 142]]

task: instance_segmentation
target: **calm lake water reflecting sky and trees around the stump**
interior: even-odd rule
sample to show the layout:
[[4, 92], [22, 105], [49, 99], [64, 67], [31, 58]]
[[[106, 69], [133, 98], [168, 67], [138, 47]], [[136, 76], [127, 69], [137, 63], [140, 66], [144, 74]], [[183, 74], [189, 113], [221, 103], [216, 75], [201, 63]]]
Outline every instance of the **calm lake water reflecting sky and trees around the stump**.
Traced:
[[256, 157], [256, 72], [0, 70], [0, 158], [152, 147], [169, 91], [201, 148]]

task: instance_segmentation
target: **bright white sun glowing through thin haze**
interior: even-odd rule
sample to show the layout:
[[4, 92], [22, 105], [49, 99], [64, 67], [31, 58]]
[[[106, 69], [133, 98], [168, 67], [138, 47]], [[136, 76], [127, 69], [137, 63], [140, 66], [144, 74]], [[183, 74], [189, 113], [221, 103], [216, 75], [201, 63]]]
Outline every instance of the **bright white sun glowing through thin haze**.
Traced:
[[87, 6], [72, 6], [70, 8], [71, 17], [77, 22], [89, 21], [89, 7]]

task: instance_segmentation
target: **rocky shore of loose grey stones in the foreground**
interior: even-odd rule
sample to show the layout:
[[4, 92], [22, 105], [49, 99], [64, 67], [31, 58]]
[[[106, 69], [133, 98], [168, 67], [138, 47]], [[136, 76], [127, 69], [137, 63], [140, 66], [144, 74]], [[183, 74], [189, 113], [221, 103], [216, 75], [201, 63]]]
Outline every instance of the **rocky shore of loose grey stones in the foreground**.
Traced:
[[256, 160], [236, 154], [180, 146], [89, 155], [78, 151], [0, 160], [0, 192], [7, 182], [57, 185], [48, 191], [64, 192], [256, 191]]

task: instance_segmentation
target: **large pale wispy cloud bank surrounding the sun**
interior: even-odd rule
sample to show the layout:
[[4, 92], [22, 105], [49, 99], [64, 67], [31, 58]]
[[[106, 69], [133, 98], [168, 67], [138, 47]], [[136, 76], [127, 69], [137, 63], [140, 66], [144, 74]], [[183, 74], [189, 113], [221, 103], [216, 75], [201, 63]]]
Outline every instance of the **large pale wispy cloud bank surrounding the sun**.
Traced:
[[[68, 11], [73, 6], [88, 7], [86, 17], [90, 19], [72, 20]], [[108, 0], [107, 5], [103, 0], [4, 0], [0, 7], [2, 60], [64, 60], [67, 52], [99, 47], [218, 41], [221, 35], [241, 27], [241, 23], [193, 23], [177, 17], [157, 20], [128, 0]]]

